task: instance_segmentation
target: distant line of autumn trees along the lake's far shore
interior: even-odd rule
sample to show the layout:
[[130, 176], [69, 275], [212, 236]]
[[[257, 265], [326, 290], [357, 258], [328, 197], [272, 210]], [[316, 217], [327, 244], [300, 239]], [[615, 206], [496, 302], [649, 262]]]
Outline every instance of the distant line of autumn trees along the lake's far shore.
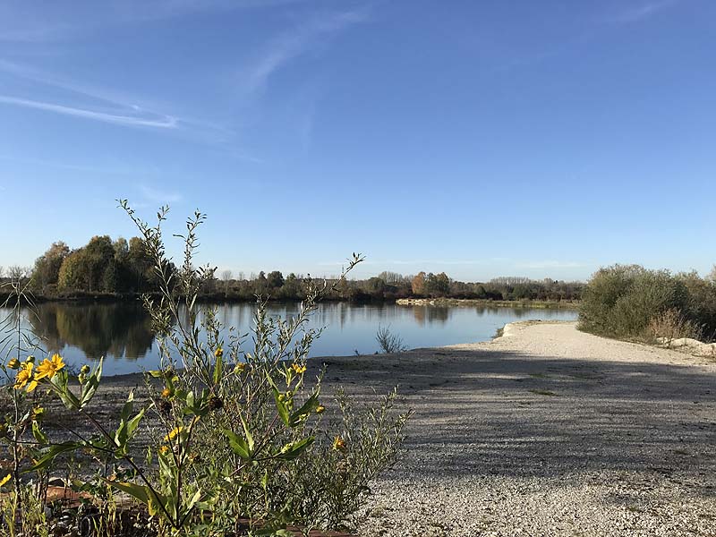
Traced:
[[[31, 278], [38, 297], [71, 298], [82, 295], [132, 295], [152, 293], [157, 289], [144, 243], [138, 237], [113, 241], [98, 235], [81, 248], [71, 250], [63, 242], [53, 243], [35, 261], [32, 268], [0, 268], [0, 278]], [[168, 267], [175, 271], [174, 266]], [[284, 276], [279, 270], [243, 273], [224, 270], [210, 277], [202, 289], [206, 300], [252, 301], [257, 295], [272, 300], [302, 300], [308, 276]], [[580, 299], [584, 284], [552, 279], [532, 280], [525, 277], [499, 277], [485, 283], [466, 283], [451, 279], [445, 272], [420, 272], [404, 276], [381, 272], [362, 280], [328, 278], [336, 290], [330, 300], [353, 302], [392, 301], [398, 298], [456, 298], [499, 301], [567, 301]]]

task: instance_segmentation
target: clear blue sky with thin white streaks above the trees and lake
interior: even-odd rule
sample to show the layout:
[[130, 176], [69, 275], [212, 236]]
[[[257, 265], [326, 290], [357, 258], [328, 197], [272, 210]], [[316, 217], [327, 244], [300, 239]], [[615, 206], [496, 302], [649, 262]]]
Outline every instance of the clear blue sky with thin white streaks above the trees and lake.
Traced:
[[710, 0], [7, 1], [0, 265], [122, 197], [234, 273], [704, 273], [714, 65]]

